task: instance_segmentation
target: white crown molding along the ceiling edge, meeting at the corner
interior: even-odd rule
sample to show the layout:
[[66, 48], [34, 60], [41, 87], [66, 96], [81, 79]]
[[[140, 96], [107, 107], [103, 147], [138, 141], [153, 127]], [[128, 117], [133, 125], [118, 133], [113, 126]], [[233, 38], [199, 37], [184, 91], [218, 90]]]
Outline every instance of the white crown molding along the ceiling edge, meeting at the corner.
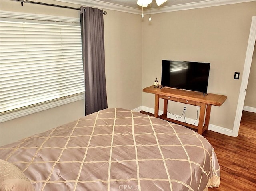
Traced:
[[[141, 10], [138, 8], [131, 8], [128, 6], [117, 5], [109, 2], [102, 2], [99, 0], [72, 0], [72, 1], [54, 0], [54, 1], [66, 2], [66, 3], [72, 2], [72, 4], [78, 4], [82, 6], [91, 6], [91, 7], [101, 8], [101, 9], [109, 9], [109, 10], [128, 12], [133, 14], [141, 14]], [[251, 1], [256, 1], [256, 0], [205, 0], [205, 1], [194, 2], [194, 3], [152, 8], [151, 14], [197, 9], [197, 8], [206, 8], [206, 7], [213, 7], [213, 6], [251, 2]], [[149, 14], [149, 10], [144, 10], [144, 14]]]

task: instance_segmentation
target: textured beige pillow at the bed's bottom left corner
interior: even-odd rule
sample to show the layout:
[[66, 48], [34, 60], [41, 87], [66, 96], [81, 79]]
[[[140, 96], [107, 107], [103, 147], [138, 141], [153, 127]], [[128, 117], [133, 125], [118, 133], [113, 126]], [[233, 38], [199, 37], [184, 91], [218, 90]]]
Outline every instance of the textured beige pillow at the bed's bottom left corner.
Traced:
[[0, 160], [0, 191], [34, 191], [30, 180], [12, 163]]

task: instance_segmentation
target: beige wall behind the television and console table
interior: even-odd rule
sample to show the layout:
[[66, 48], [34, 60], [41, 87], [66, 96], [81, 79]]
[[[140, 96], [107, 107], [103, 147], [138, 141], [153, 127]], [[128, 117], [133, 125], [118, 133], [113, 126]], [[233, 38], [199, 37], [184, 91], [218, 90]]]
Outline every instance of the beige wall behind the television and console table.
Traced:
[[[210, 62], [208, 92], [226, 95], [221, 107], [213, 106], [210, 124], [233, 129], [252, 16], [256, 2], [215, 6], [152, 15], [143, 22], [142, 87], [161, 81], [162, 59]], [[154, 95], [142, 93], [142, 105], [154, 108]], [[184, 104], [168, 105], [182, 114]], [[196, 106], [186, 117], [196, 119]]]

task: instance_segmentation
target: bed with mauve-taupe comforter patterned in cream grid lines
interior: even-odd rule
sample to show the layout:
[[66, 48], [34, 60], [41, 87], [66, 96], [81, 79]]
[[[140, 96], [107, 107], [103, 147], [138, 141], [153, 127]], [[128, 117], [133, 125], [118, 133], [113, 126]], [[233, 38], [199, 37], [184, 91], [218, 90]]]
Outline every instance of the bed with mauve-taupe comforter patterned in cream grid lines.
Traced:
[[0, 148], [36, 191], [207, 191], [220, 184], [214, 148], [184, 126], [104, 109]]

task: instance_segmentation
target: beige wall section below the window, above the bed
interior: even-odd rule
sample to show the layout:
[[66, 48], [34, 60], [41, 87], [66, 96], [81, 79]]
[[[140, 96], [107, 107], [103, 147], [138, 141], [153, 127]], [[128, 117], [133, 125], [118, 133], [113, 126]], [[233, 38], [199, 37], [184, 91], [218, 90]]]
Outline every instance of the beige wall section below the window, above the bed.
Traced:
[[72, 102], [1, 123], [0, 143], [5, 145], [44, 132], [84, 116], [84, 100]]

